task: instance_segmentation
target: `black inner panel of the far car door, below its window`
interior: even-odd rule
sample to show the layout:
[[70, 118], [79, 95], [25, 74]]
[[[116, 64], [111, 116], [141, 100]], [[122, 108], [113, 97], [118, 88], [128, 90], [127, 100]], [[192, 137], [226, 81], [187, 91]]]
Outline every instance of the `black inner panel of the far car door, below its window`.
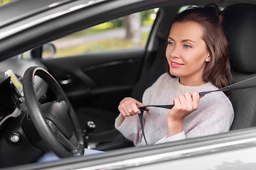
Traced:
[[144, 48], [41, 60], [74, 108], [117, 111], [139, 78]]

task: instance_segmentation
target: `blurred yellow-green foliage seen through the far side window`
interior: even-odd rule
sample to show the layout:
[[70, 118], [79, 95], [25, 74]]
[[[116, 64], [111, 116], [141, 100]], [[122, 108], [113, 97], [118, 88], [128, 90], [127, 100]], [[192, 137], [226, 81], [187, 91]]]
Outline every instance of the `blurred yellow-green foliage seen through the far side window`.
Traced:
[[[55, 57], [65, 57], [70, 55], [81, 55], [85, 53], [93, 53], [93, 52], [103, 52], [103, 51], [109, 51], [109, 50], [122, 50], [122, 49], [129, 49], [134, 47], [145, 47], [146, 42], [149, 38], [150, 28], [154, 23], [154, 20], [156, 18], [156, 12], [155, 9], [151, 9], [148, 11], [143, 11], [140, 14], [140, 28], [139, 28], [139, 44], [134, 45], [132, 42], [132, 38], [110, 38], [107, 40], [100, 40], [100, 41], [93, 41], [92, 42], [86, 42], [82, 43], [80, 45], [75, 45], [73, 47], [67, 47], [67, 48], [59, 48], [57, 49], [57, 53]], [[127, 17], [127, 16], [125, 16]], [[87, 28], [85, 30], [82, 30], [78, 33], [74, 33], [72, 35], [69, 35], [65, 38], [61, 38], [62, 40], [74, 40], [75, 38], [81, 38], [85, 37], [87, 35], [100, 35], [101, 33], [106, 33], [108, 31], [112, 30], [119, 30], [124, 29], [127, 32], [127, 28], [125, 26], [125, 17], [117, 18], [112, 21], [108, 21], [105, 23], [101, 23], [97, 26], [94, 26], [92, 28]], [[132, 26], [135, 24], [134, 21], [132, 21]], [[148, 30], [142, 31], [142, 27], [149, 27]], [[112, 33], [112, 32], [110, 32]], [[138, 36], [138, 35], [136, 35]], [[58, 41], [58, 40], [57, 40]], [[57, 43], [55, 41], [55, 43]]]

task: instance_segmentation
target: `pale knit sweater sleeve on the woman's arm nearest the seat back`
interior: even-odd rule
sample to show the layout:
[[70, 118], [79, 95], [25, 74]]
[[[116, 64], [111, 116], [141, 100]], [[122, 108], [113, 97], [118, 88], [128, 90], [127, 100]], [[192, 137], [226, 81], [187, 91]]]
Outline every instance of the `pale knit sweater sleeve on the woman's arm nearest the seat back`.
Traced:
[[[209, 101], [209, 98], [205, 99], [205, 101]], [[186, 123], [195, 122], [194, 124], [190, 124], [191, 127], [188, 127], [188, 129], [183, 130], [183, 132], [177, 135], [168, 138], [164, 137], [159, 142], [156, 142], [156, 144], [228, 132], [234, 118], [231, 103], [227, 100], [218, 101], [213, 98], [212, 101], [211, 103], [202, 103], [203, 107], [200, 109], [200, 113], [188, 115], [183, 122], [183, 126]]]

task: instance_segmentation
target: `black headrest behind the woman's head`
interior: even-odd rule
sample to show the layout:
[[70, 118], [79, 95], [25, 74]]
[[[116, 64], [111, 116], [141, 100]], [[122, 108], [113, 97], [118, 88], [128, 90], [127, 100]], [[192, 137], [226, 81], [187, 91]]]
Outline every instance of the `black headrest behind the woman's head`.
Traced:
[[223, 11], [233, 70], [256, 72], [256, 5], [234, 4]]

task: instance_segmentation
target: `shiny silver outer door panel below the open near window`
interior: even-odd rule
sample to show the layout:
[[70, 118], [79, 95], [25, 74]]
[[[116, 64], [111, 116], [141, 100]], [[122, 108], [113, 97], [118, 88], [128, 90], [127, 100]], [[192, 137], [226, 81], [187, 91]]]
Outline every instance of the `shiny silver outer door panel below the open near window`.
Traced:
[[252, 169], [255, 128], [18, 169]]

